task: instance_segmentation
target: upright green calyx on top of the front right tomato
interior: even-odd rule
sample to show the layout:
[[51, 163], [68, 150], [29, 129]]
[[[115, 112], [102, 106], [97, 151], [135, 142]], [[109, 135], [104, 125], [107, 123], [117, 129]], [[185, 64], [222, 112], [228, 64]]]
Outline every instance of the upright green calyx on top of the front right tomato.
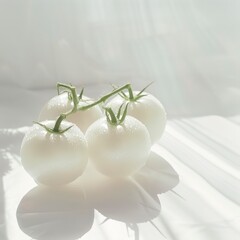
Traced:
[[111, 108], [104, 108], [105, 115], [107, 118], [107, 121], [109, 124], [117, 126], [119, 124], [122, 124], [127, 116], [127, 108], [128, 104], [125, 105], [125, 108], [123, 109], [123, 106], [125, 104], [123, 103], [120, 108], [118, 109], [117, 114], [113, 112]]

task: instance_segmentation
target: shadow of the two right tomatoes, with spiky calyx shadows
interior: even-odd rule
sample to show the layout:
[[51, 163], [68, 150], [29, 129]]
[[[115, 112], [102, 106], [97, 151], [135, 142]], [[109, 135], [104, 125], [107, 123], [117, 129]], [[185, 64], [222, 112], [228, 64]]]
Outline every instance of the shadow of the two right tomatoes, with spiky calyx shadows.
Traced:
[[[92, 173], [94, 174], [94, 173]], [[161, 212], [160, 196], [179, 183], [179, 176], [162, 157], [151, 152], [147, 164], [129, 178], [98, 175], [86, 189], [92, 205], [103, 216], [123, 222], [139, 239], [139, 223], [152, 222]], [[88, 183], [90, 183], [90, 179]], [[161, 232], [160, 232], [161, 233]]]

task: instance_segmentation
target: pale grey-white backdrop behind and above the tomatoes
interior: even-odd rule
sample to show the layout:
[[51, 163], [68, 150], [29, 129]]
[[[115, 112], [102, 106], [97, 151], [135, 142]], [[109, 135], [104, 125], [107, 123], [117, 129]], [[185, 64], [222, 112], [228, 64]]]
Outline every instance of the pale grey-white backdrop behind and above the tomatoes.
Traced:
[[0, 0], [1, 108], [27, 105], [33, 118], [29, 91], [57, 81], [100, 92], [155, 81], [170, 116], [239, 114], [239, 10], [238, 0]]

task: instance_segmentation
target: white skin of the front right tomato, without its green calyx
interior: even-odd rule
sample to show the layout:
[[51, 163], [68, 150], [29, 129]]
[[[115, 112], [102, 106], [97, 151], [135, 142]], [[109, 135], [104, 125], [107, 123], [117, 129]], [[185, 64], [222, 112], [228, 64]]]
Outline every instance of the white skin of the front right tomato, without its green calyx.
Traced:
[[105, 117], [97, 120], [88, 128], [86, 139], [96, 169], [111, 177], [129, 176], [143, 167], [151, 148], [147, 128], [131, 116], [117, 126]]

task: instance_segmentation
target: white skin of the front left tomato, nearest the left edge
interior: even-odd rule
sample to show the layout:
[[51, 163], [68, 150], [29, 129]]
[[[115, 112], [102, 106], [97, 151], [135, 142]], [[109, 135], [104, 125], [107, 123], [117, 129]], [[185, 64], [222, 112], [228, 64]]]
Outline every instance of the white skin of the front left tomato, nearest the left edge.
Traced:
[[[55, 122], [42, 123], [53, 127]], [[63, 129], [72, 125], [61, 123]], [[24, 169], [38, 184], [64, 185], [83, 173], [88, 160], [87, 142], [76, 125], [56, 134], [34, 124], [23, 139], [20, 155]]]

